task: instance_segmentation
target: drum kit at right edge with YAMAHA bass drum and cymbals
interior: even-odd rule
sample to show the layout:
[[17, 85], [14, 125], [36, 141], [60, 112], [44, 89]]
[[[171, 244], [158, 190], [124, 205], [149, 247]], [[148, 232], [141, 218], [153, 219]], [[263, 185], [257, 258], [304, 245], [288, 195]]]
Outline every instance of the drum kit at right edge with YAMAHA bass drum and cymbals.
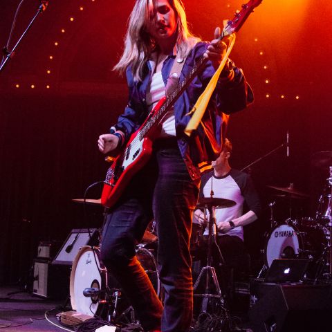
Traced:
[[[325, 168], [332, 165], [332, 151], [322, 151], [313, 156], [313, 166]], [[268, 186], [276, 190], [275, 196], [284, 197], [289, 201], [289, 218], [282, 223], [274, 220], [273, 207], [269, 204], [270, 230], [266, 233], [264, 266], [259, 277], [269, 268], [274, 259], [309, 259], [311, 262], [306, 273], [308, 281], [332, 282], [332, 166], [329, 166], [329, 178], [320, 194], [314, 217], [292, 217], [292, 201], [304, 200], [309, 196], [296, 190], [293, 183], [288, 187]]]

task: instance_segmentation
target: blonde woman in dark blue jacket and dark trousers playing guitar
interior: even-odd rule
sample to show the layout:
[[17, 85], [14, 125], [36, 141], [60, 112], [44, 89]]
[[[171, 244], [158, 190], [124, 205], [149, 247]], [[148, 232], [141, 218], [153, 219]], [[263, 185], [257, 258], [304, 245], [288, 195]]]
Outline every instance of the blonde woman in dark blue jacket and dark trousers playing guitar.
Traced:
[[[218, 68], [228, 39], [201, 42], [190, 33], [181, 0], [137, 0], [129, 18], [124, 51], [115, 66], [127, 75], [129, 102], [110, 133], [99, 137], [103, 154], [123, 147], [154, 105], [167, 94], [175, 61], [183, 62], [178, 81], [205, 57], [203, 71], [167, 112], [154, 137], [148, 162], [129, 181], [109, 209], [101, 259], [120, 282], [144, 331], [187, 332], [192, 320], [192, 274], [189, 250], [192, 214], [199, 196], [201, 163], [214, 160], [225, 137], [223, 114], [244, 109], [253, 100], [242, 71], [229, 60], [201, 125], [189, 138], [187, 113]], [[166, 92], [165, 92], [166, 91]], [[163, 303], [135, 255], [145, 228], [156, 221], [158, 273]]]

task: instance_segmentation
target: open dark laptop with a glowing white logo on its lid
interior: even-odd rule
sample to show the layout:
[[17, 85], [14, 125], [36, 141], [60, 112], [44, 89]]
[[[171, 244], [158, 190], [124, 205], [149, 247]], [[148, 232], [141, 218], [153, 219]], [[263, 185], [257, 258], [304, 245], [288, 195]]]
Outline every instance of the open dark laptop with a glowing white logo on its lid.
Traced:
[[299, 282], [308, 268], [308, 263], [309, 259], [275, 259], [264, 282]]

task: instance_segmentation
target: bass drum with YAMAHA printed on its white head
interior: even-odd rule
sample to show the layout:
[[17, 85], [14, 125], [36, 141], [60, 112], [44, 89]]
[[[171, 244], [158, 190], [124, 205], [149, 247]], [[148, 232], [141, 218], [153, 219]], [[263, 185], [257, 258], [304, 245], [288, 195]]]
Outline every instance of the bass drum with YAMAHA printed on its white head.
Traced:
[[270, 267], [273, 260], [278, 258], [318, 259], [327, 243], [327, 233], [328, 230], [319, 224], [277, 225], [266, 239], [266, 266]]

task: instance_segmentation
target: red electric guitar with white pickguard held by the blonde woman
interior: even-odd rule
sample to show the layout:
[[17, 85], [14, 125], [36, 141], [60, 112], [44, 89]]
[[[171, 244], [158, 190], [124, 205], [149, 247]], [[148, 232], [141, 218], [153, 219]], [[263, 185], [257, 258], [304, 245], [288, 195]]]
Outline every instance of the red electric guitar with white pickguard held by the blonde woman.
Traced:
[[[235, 13], [231, 21], [228, 21], [218, 39], [221, 40], [223, 37], [237, 32], [261, 1], [250, 0], [242, 5], [242, 9]], [[187, 89], [190, 82], [194, 80], [194, 77], [203, 69], [206, 61], [208, 60], [201, 57], [192, 68], [190, 75], [181, 84], [178, 84], [174, 93], [167, 98], [162, 98], [152, 109], [145, 122], [131, 135], [126, 147], [116, 157], [109, 157], [112, 163], [107, 171], [101, 198], [102, 205], [106, 208], [111, 208], [116, 203], [132, 176], [147, 163], [152, 152], [152, 142], [160, 131], [161, 120], [173, 107], [181, 93]]]

